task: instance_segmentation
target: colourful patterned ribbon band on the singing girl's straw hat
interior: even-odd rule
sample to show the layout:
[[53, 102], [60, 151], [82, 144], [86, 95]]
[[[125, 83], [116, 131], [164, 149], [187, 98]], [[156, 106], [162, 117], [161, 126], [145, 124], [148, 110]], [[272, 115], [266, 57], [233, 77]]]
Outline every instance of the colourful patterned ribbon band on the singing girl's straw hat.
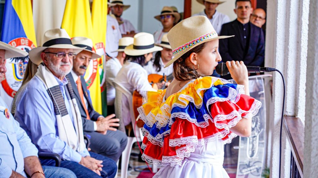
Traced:
[[214, 37], [217, 37], [218, 36], [218, 33], [216, 31], [213, 31], [213, 32], [210, 32], [210, 33], [207, 33], [205, 35], [202, 35], [200, 37], [198, 37], [197, 39], [195, 40], [192, 40], [188, 43], [185, 43], [184, 45], [174, 49], [172, 51], [173, 55], [176, 56], [184, 51], [187, 51], [188, 49], [192, 48], [194, 45], [198, 44], [198, 43], [201, 43], [202, 41], [204, 40], [208, 40], [208, 39], [211, 39], [211, 38], [214, 38]]

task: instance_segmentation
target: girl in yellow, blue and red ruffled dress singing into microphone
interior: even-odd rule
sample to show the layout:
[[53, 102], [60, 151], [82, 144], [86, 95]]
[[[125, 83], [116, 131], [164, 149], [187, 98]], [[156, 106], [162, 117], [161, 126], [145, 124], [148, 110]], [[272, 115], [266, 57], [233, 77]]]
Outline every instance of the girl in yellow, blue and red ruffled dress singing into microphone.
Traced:
[[[186, 35], [184, 35], [186, 34]], [[226, 65], [239, 84], [211, 77], [221, 61], [218, 36], [209, 19], [195, 16], [168, 33], [175, 79], [166, 90], [148, 92], [138, 108], [145, 122], [142, 158], [163, 167], [154, 177], [228, 178], [224, 144], [251, 134], [261, 103], [249, 96], [243, 62]]]

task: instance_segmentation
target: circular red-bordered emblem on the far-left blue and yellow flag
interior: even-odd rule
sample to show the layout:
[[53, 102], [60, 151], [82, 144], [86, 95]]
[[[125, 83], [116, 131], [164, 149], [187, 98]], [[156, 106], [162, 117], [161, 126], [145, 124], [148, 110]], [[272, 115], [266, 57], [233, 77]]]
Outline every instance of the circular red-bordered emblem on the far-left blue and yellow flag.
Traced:
[[[11, 40], [8, 44], [28, 53], [32, 48], [35, 48], [33, 42], [24, 37]], [[5, 67], [7, 68], [7, 72], [5, 73], [5, 78], [1, 84], [4, 91], [12, 98], [22, 84], [28, 61], [29, 55], [26, 57], [10, 58], [6, 61]]]

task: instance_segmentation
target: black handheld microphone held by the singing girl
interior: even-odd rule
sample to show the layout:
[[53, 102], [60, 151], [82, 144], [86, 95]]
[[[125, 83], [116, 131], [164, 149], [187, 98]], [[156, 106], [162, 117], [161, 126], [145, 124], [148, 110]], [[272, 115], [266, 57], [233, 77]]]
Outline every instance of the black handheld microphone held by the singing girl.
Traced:
[[[274, 72], [276, 70], [275, 68], [271, 67], [246, 66], [246, 68], [247, 73]], [[227, 75], [230, 73], [224, 62], [219, 63], [217, 67], [215, 67], [215, 70], [219, 75]]]

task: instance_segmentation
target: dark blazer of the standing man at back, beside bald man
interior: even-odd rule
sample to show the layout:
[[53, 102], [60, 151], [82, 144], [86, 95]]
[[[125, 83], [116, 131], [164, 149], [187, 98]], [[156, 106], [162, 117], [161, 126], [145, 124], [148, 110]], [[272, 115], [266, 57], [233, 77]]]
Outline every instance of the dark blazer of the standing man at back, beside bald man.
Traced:
[[265, 55], [263, 30], [249, 23], [250, 40], [247, 41], [247, 49], [245, 49], [243, 46], [243, 29], [240, 29], [239, 23], [238, 20], [234, 20], [222, 25], [220, 36], [235, 35], [231, 38], [219, 40], [222, 61], [243, 60], [246, 66], [261, 66]]

